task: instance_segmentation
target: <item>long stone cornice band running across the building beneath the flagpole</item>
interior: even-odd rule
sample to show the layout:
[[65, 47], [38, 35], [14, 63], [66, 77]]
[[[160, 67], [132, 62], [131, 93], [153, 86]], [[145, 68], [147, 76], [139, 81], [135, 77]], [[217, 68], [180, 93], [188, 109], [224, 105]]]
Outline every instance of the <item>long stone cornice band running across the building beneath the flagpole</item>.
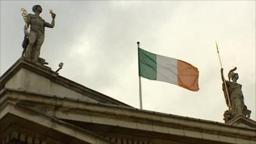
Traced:
[[[65, 111], [65, 113], [75, 112], [77, 113], [77, 116], [83, 116], [84, 112], [90, 113], [91, 116], [101, 115], [104, 118], [108, 118], [108, 120], [117, 122], [116, 124], [113, 124], [114, 126], [125, 126], [125, 123], [122, 123], [121, 120], [127, 120], [125, 122], [129, 122], [129, 124], [134, 125], [133, 127], [130, 127], [134, 129], [145, 130], [138, 126], [145, 124], [147, 127], [148, 125], [151, 125], [152, 127], [152, 129], [147, 128], [147, 131], [158, 131], [157, 129], [159, 129], [158, 132], [166, 131], [168, 133], [168, 129], [182, 129], [185, 134], [188, 132], [188, 136], [190, 131], [199, 132], [201, 135], [214, 134], [214, 136], [217, 136], [216, 138], [229, 136], [256, 141], [256, 129], [250, 127], [229, 125], [184, 116], [168, 115], [165, 113], [156, 113], [154, 111], [145, 111], [141, 109], [125, 108], [124, 106], [114, 106], [102, 103], [94, 104], [91, 102], [76, 101], [72, 99], [61, 99], [59, 97], [52, 97], [51, 95], [42, 95], [42, 93], [40, 95], [36, 95], [35, 93], [23, 92], [22, 90], [5, 89], [0, 93], [0, 98], [3, 93], [8, 94], [8, 97], [5, 97], [5, 100], [0, 100], [0, 102], [4, 102], [9, 99], [13, 102], [18, 102], [19, 104], [26, 102], [26, 104], [40, 104], [41, 106], [44, 105], [58, 108], [57, 110], [60, 113], [61, 111]], [[119, 123], [118, 120], [120, 120]], [[129, 128], [129, 125], [127, 127]], [[189, 131], [186, 131], [186, 129]]]

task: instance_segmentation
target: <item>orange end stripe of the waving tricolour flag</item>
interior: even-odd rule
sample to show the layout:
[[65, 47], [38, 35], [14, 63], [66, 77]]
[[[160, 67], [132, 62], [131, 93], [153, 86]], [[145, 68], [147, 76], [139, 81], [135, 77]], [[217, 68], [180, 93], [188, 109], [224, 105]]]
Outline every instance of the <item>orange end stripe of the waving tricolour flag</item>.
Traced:
[[181, 60], [177, 60], [177, 68], [179, 86], [191, 91], [198, 91], [198, 69], [193, 65]]

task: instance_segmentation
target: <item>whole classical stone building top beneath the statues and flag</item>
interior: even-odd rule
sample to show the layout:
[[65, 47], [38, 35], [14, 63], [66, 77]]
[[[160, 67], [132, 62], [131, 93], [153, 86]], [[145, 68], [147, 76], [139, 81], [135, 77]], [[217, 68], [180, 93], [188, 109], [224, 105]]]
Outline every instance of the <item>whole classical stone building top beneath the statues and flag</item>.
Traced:
[[20, 58], [0, 77], [2, 144], [255, 144], [256, 123], [132, 108]]

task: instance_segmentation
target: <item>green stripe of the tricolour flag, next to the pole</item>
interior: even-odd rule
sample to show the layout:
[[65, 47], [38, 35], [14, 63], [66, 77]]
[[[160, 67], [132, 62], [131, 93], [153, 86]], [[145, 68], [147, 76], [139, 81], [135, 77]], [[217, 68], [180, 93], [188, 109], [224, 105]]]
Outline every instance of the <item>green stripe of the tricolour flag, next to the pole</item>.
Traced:
[[156, 54], [138, 48], [139, 52], [139, 76], [156, 80], [157, 65]]

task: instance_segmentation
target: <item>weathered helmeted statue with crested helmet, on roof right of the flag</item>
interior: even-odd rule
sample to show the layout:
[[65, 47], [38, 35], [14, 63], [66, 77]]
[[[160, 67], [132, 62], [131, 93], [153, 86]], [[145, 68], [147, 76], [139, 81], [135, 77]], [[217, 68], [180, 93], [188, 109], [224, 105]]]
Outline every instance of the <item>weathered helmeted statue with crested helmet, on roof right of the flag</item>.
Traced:
[[[224, 92], [227, 105], [228, 100], [230, 100], [231, 104], [230, 109], [228, 109], [224, 113], [225, 122], [228, 122], [237, 115], [244, 115], [250, 118], [251, 111], [248, 110], [244, 104], [242, 85], [237, 83], [237, 79], [239, 79], [239, 76], [237, 73], [234, 72], [236, 69], [237, 68], [235, 67], [228, 72], [228, 81], [225, 81], [225, 78], [223, 76], [223, 68], [221, 68], [221, 79], [223, 81], [222, 90]], [[230, 79], [232, 81], [230, 81]], [[224, 82], [227, 85], [227, 89]]]

